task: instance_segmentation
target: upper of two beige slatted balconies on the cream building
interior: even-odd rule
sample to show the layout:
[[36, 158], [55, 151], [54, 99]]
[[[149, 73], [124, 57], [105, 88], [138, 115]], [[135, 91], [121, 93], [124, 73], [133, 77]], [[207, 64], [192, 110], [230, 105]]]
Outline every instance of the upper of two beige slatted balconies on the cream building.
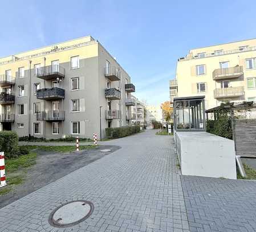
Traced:
[[213, 71], [213, 80], [239, 78], [243, 75], [243, 67], [235, 66], [231, 68], [218, 68]]

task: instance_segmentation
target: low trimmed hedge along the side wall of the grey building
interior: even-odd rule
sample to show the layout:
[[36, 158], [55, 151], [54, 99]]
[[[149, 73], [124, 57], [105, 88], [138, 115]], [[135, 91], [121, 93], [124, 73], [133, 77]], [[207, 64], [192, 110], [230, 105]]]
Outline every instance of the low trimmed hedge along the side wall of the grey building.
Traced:
[[105, 128], [105, 132], [108, 139], [116, 139], [140, 132], [140, 125], [133, 125], [131, 127]]

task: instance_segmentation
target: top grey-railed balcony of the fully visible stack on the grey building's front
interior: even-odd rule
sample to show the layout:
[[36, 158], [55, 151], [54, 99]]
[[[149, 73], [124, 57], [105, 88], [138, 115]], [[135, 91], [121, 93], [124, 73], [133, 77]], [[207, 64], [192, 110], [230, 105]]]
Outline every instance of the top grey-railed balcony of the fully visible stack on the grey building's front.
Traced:
[[36, 70], [35, 76], [43, 80], [62, 79], [65, 77], [65, 69], [59, 65], [40, 67]]

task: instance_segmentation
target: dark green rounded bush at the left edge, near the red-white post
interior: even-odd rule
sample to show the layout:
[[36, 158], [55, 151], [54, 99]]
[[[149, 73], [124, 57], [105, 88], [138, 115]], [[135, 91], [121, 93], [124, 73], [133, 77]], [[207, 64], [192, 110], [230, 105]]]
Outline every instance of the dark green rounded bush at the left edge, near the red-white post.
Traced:
[[18, 135], [14, 131], [0, 132], [0, 151], [5, 152], [6, 158], [16, 158], [19, 156]]

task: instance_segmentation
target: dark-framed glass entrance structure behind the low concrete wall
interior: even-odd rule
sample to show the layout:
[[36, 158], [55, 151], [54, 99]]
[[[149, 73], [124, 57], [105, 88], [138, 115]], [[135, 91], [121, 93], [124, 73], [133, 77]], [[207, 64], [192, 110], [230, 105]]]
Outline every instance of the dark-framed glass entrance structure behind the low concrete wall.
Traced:
[[206, 131], [205, 96], [173, 99], [175, 131]]

